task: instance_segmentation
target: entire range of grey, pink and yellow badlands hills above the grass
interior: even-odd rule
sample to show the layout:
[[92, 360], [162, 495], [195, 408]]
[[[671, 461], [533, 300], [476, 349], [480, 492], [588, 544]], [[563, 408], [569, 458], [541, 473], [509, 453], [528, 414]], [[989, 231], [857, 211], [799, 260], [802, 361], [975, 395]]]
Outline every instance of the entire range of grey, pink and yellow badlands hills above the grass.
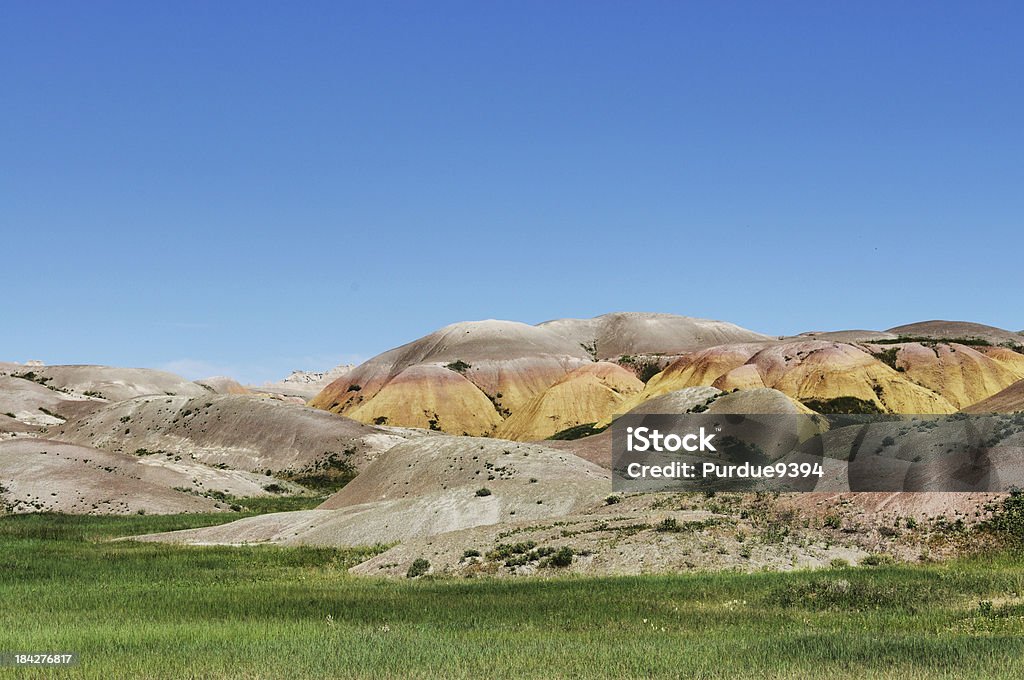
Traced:
[[[604, 428], [618, 414], [851, 409], [1024, 411], [1024, 336], [926, 322], [779, 338], [613, 313], [455, 324], [261, 387], [0, 364], [0, 511], [232, 512], [245, 498], [321, 497], [315, 510], [145, 540], [394, 544], [356, 568], [390, 576], [421, 558], [435, 573], [531, 573], [556, 554], [600, 573], [814, 566], [916, 554], [927, 533], [882, 530], [905, 517], [985, 516], [991, 495], [611, 494]], [[780, 522], [785, 540], [736, 538]]]

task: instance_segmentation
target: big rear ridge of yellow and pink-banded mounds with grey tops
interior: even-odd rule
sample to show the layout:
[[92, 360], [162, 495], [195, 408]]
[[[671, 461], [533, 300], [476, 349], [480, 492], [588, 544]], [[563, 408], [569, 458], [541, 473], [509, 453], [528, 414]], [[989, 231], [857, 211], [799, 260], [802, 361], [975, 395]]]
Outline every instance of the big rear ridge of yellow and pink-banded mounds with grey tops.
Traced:
[[782, 339], [669, 314], [472, 322], [370, 359], [309, 403], [369, 424], [518, 441], [604, 426], [698, 386], [771, 388], [812, 409], [854, 397], [880, 413], [951, 414], [1024, 379], [1022, 343], [954, 322]]

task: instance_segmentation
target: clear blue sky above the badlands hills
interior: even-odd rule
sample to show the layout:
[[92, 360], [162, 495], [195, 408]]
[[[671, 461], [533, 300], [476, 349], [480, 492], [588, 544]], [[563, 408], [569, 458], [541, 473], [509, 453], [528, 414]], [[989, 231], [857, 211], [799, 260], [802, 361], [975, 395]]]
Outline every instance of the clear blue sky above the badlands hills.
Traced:
[[1019, 3], [6, 2], [0, 360], [1020, 330]]

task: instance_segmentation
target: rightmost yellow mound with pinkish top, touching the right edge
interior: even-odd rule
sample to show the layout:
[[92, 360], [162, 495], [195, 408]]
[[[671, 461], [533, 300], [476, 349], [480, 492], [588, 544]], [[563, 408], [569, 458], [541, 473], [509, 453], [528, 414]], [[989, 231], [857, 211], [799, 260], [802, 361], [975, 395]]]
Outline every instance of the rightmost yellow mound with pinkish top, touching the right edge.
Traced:
[[[868, 345], [910, 380], [956, 409], [981, 401], [1024, 378], [1024, 354], [956, 343]], [[985, 350], [989, 351], [985, 351]], [[909, 413], [909, 412], [904, 412]]]

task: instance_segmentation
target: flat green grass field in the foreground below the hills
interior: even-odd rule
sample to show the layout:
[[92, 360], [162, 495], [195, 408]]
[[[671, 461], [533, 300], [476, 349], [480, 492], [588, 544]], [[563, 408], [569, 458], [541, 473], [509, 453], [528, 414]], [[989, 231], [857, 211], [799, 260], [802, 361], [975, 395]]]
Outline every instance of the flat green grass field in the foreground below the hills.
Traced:
[[[253, 511], [279, 509], [275, 506]], [[1024, 556], [794, 573], [417, 580], [374, 552], [110, 542], [238, 515], [0, 517], [0, 653], [88, 678], [1020, 678]], [[378, 548], [379, 549], [379, 548]]]

